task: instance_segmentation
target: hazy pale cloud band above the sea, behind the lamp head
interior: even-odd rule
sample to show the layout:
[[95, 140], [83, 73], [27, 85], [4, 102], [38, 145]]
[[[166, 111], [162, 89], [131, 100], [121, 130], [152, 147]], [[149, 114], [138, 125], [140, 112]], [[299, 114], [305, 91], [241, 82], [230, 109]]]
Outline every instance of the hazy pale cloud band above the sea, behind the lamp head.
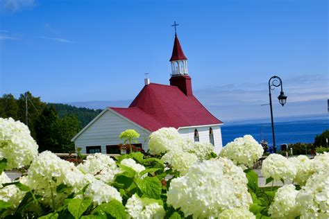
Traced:
[[[261, 106], [269, 103], [267, 82], [207, 87], [195, 90], [194, 94], [219, 119], [258, 118], [268, 116], [268, 106]], [[280, 116], [326, 112], [328, 76], [301, 75], [282, 78], [282, 82], [283, 91], [288, 96], [285, 107], [278, 103], [280, 87], [271, 91], [273, 107]]]

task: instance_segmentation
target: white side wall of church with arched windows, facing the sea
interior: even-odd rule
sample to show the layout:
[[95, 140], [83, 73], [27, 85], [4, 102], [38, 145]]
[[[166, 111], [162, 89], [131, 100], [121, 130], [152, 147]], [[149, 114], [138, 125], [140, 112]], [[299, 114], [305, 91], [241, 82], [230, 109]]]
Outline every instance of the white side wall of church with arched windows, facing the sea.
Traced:
[[221, 126], [220, 125], [209, 125], [209, 126], [199, 126], [199, 127], [189, 127], [189, 128], [179, 128], [178, 132], [185, 138], [194, 141], [194, 130], [199, 132], [200, 142], [210, 142], [209, 130], [212, 128], [212, 133], [214, 134], [214, 151], [219, 153], [221, 148], [223, 148], [221, 140]]

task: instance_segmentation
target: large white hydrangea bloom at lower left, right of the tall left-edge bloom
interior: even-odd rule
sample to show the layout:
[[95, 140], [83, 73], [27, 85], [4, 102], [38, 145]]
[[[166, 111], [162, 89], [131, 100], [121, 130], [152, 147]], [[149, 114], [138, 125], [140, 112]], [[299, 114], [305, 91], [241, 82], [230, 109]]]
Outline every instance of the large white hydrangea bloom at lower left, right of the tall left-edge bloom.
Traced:
[[85, 175], [74, 164], [62, 160], [50, 151], [44, 151], [32, 162], [26, 177], [20, 182], [42, 195], [42, 202], [51, 208], [56, 208], [67, 197], [66, 193], [57, 193], [60, 184], [72, 187], [71, 191], [85, 186]]

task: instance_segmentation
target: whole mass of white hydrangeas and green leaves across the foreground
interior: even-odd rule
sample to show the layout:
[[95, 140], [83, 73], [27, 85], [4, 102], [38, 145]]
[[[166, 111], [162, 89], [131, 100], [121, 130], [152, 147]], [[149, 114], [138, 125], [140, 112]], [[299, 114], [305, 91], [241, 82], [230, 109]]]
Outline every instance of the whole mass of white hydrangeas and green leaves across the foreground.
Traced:
[[[0, 146], [0, 218], [329, 218], [328, 153], [312, 160], [270, 155], [267, 181], [300, 186], [260, 188], [246, 168], [262, 151], [251, 136], [217, 157], [210, 143], [162, 128], [151, 134], [150, 154], [98, 153], [75, 166], [49, 151], [37, 154], [23, 123], [0, 119]], [[3, 172], [21, 167], [26, 172], [13, 182]]]

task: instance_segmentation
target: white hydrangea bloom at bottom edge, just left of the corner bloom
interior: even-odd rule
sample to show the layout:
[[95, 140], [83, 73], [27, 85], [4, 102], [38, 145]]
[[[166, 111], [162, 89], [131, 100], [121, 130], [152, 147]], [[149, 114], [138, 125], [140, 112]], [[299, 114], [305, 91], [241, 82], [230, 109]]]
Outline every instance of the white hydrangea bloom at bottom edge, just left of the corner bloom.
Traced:
[[296, 202], [297, 194], [298, 191], [292, 184], [279, 188], [269, 207], [271, 218], [296, 218], [299, 216], [299, 206]]

